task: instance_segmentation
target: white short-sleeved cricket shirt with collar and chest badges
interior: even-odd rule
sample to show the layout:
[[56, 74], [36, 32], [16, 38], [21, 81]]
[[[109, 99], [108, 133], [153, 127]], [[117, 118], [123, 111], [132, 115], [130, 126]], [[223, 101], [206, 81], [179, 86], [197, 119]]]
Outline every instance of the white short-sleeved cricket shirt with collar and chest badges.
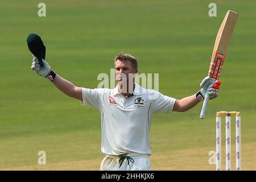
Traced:
[[108, 155], [130, 152], [151, 155], [150, 126], [155, 113], [171, 113], [175, 98], [135, 83], [133, 94], [125, 98], [114, 89], [82, 88], [82, 105], [101, 113], [101, 151]]

